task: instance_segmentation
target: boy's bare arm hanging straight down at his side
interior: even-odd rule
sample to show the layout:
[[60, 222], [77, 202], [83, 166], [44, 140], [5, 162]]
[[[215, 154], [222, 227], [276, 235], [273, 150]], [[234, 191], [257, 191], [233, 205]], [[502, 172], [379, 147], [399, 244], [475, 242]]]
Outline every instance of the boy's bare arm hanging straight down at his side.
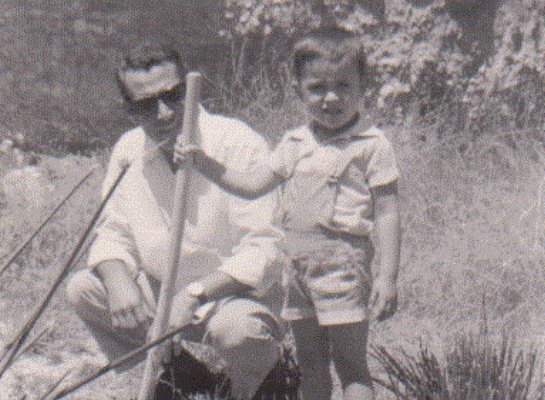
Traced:
[[375, 230], [380, 250], [380, 270], [373, 283], [370, 306], [372, 318], [382, 321], [397, 309], [397, 273], [401, 233], [397, 185], [371, 189], [375, 204]]

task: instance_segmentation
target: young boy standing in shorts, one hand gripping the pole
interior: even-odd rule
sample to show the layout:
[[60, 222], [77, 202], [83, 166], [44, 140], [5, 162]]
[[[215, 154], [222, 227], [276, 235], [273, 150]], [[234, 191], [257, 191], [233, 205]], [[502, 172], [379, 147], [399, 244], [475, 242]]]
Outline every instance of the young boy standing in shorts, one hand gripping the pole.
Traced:
[[[226, 169], [196, 146], [175, 150], [178, 157], [194, 151], [204, 175], [243, 197], [282, 184], [278, 223], [291, 261], [282, 315], [295, 335], [306, 400], [331, 398], [331, 359], [344, 399], [374, 398], [369, 321], [397, 307], [399, 174], [392, 146], [363, 115], [365, 61], [358, 38], [341, 29], [299, 41], [295, 88], [310, 123], [287, 132], [269, 162], [250, 173]], [[381, 256], [374, 282], [373, 232]]]

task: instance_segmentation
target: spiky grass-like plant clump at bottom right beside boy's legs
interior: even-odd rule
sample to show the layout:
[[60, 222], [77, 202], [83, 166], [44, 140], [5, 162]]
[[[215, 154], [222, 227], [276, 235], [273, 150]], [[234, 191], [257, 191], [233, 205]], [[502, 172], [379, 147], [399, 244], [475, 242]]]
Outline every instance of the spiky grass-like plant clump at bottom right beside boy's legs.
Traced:
[[533, 347], [487, 335], [457, 337], [444, 359], [423, 343], [415, 354], [396, 355], [380, 345], [371, 354], [388, 376], [377, 382], [406, 400], [529, 399], [538, 360]]

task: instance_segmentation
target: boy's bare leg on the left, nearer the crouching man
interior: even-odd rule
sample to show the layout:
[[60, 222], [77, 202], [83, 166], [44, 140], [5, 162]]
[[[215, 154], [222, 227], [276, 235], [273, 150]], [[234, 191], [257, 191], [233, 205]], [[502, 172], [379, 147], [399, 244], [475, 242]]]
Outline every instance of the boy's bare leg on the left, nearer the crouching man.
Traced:
[[301, 393], [304, 400], [330, 400], [331, 375], [327, 328], [314, 318], [292, 321], [297, 359], [301, 368]]

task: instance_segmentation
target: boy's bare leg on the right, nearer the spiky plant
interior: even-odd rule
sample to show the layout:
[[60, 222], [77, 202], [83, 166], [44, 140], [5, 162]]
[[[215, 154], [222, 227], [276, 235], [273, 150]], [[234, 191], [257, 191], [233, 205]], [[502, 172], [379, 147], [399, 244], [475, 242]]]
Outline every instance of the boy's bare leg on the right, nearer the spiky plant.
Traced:
[[332, 357], [343, 386], [344, 400], [374, 400], [367, 367], [367, 321], [329, 326]]

